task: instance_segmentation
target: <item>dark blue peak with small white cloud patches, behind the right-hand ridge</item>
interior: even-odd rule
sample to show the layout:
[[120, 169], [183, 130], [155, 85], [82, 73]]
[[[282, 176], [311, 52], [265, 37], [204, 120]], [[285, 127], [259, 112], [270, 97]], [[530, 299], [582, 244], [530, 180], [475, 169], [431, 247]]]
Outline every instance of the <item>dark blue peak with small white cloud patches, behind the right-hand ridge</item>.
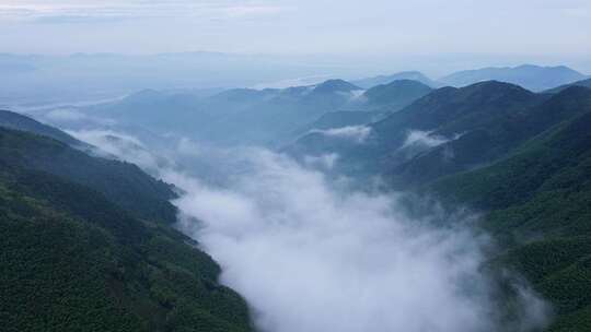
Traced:
[[[337, 153], [343, 167], [352, 171], [394, 169], [448, 141], [471, 141], [471, 135], [477, 134], [479, 129], [496, 128], [502, 119], [547, 98], [546, 95], [495, 81], [462, 88], [442, 87], [368, 124], [370, 134], [363, 144], [314, 132], [300, 138], [286, 151], [294, 155]], [[468, 132], [471, 135], [463, 138]], [[485, 163], [503, 151], [483, 150], [479, 162]]]

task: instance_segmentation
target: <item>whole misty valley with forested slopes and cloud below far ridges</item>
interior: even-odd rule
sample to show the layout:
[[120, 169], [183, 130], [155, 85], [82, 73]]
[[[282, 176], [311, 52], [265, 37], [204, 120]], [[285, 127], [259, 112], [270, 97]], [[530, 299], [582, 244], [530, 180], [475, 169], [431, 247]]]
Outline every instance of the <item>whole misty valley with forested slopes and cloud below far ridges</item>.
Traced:
[[[46, 331], [586, 331], [584, 81], [372, 80], [142, 91], [31, 112], [47, 124], [2, 111], [3, 284], [19, 285], [3, 315]], [[46, 274], [18, 282], [19, 262]], [[102, 301], [13, 309], [46, 278]], [[99, 320], [33, 319], [71, 306]]]

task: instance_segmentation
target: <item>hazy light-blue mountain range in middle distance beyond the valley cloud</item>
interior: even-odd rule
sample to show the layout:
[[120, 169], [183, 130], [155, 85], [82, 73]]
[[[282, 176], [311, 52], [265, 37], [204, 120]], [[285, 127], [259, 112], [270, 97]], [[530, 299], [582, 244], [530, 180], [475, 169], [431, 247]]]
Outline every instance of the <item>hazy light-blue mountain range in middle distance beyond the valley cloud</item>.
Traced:
[[236, 88], [212, 96], [142, 91], [123, 100], [83, 108], [157, 133], [176, 132], [221, 144], [279, 146], [331, 111], [374, 115], [399, 110], [431, 88], [394, 81], [368, 91], [343, 81], [288, 88]]

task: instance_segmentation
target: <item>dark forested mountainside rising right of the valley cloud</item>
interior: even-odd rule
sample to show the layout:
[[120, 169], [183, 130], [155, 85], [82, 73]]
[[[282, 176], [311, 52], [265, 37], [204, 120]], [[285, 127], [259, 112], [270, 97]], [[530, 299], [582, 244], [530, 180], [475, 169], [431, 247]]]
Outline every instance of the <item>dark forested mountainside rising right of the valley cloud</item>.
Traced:
[[545, 331], [591, 328], [590, 88], [443, 87], [366, 128], [363, 142], [313, 132], [287, 151], [337, 153], [339, 170], [476, 211], [499, 248], [485, 269], [517, 271], [554, 306]]

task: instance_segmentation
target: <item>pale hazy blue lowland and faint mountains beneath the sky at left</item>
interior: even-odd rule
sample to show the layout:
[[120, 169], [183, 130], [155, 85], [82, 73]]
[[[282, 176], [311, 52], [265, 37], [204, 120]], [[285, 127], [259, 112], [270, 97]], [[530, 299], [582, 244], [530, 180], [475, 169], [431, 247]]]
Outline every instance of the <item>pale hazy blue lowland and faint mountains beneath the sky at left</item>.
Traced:
[[[255, 86], [334, 72], [281, 56], [220, 52], [158, 55], [0, 55], [0, 99], [5, 105], [92, 102], [142, 88]], [[343, 74], [345, 74], [344, 72]], [[338, 74], [335, 73], [335, 74]]]

